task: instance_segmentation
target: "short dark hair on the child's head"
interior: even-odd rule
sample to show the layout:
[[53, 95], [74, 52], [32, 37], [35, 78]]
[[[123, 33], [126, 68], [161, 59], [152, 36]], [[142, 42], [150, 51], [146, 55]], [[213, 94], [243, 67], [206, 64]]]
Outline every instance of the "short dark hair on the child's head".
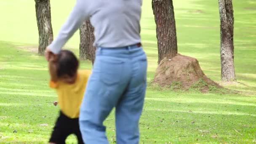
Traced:
[[77, 73], [79, 61], [75, 54], [69, 50], [61, 50], [57, 60], [57, 76], [68, 75], [73, 77]]

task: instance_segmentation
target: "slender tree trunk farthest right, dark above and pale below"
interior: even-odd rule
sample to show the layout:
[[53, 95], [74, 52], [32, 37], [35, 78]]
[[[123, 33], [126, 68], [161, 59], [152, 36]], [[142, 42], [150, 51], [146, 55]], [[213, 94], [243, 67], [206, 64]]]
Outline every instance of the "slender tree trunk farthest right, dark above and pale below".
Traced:
[[232, 0], [219, 0], [221, 21], [221, 81], [235, 81]]

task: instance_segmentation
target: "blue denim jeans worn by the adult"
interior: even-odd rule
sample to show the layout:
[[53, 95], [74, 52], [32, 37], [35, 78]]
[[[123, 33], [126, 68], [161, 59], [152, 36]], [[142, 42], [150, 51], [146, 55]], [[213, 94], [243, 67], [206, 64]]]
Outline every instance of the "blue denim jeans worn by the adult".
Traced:
[[139, 143], [139, 118], [147, 85], [142, 48], [98, 48], [80, 108], [85, 144], [108, 144], [103, 121], [115, 107], [117, 144]]

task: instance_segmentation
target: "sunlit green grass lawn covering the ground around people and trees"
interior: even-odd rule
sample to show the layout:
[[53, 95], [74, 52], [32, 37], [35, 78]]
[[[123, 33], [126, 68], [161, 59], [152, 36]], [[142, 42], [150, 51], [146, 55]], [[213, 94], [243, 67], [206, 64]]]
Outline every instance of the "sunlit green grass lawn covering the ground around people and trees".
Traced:
[[[51, 0], [56, 36], [75, 0]], [[140, 120], [141, 143], [256, 143], [256, 1], [233, 0], [235, 70], [239, 83], [224, 85], [239, 94], [159, 91], [148, 87]], [[174, 0], [178, 51], [198, 59], [205, 74], [220, 80], [217, 0]], [[0, 143], [46, 143], [59, 108], [49, 103], [47, 63], [38, 56], [32, 0], [2, 0], [0, 22]], [[143, 1], [141, 36], [149, 60], [148, 81], [157, 67], [157, 43], [151, 0]], [[78, 54], [79, 35], [67, 43]], [[29, 48], [29, 51], [27, 51]], [[82, 69], [91, 69], [89, 61]], [[47, 123], [46, 126], [41, 124]], [[105, 121], [115, 141], [113, 112]], [[68, 143], [75, 143], [70, 136]]]

